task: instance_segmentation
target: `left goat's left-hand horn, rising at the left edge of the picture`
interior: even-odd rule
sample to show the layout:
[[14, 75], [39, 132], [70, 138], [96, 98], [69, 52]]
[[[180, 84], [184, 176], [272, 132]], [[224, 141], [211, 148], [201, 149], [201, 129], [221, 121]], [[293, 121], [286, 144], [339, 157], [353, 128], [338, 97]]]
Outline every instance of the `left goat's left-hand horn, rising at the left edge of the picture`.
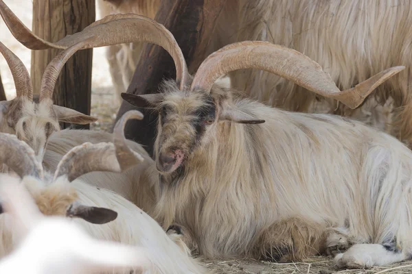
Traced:
[[32, 80], [30, 79], [29, 72], [23, 62], [21, 62], [10, 49], [5, 47], [2, 42], [0, 42], [0, 52], [4, 56], [4, 59], [12, 72], [14, 85], [16, 86], [16, 96], [26, 96], [30, 101], [33, 101]]

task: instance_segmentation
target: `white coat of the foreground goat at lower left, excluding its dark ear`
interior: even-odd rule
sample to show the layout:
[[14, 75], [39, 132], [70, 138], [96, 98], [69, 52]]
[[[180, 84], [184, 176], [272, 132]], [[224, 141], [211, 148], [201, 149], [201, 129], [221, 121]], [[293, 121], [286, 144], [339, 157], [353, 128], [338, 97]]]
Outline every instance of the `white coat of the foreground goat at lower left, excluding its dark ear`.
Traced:
[[[1, 177], [4, 178], [5, 176]], [[73, 202], [67, 198], [69, 192], [76, 193], [76, 200], [82, 204], [115, 210], [117, 219], [104, 225], [94, 225], [81, 219], [72, 221], [95, 239], [121, 242], [146, 250], [145, 255], [151, 266], [144, 269], [144, 273], [205, 273], [205, 269], [188, 256], [187, 247], [182, 246], [180, 241], [181, 235], [168, 236], [148, 214], [114, 192], [85, 184], [82, 179], [69, 184], [65, 177], [46, 185], [34, 177], [24, 177], [23, 184], [41, 212], [47, 212], [47, 215], [62, 216], [62, 212], [66, 212]], [[0, 222], [0, 255], [3, 257], [14, 249], [19, 237], [15, 235], [14, 223], [8, 214], [2, 214]], [[141, 269], [135, 271], [141, 273]], [[121, 273], [130, 273], [130, 269]]]

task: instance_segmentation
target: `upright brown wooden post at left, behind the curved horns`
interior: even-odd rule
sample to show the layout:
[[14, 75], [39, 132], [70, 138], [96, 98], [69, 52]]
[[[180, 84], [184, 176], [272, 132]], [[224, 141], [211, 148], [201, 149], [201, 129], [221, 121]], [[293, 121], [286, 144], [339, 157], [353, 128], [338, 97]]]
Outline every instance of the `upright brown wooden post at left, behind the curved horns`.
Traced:
[[[35, 34], [56, 42], [68, 34], [82, 31], [95, 21], [95, 0], [34, 0], [33, 25]], [[61, 50], [32, 51], [32, 81], [34, 94], [40, 91], [41, 77], [47, 64]], [[54, 88], [53, 100], [84, 114], [91, 108], [91, 67], [93, 49], [75, 53], [62, 69]], [[63, 128], [69, 124], [62, 123]], [[75, 125], [89, 129], [89, 125]]]

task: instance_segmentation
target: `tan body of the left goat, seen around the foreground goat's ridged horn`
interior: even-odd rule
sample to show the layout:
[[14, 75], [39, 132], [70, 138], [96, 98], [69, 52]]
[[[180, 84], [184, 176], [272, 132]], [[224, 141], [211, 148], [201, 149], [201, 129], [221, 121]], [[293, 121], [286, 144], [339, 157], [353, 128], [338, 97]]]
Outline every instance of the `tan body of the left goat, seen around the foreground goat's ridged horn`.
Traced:
[[[82, 145], [84, 142], [96, 144], [111, 141], [113, 141], [113, 134], [100, 131], [64, 129], [55, 132], [47, 142], [43, 165], [49, 171], [54, 172], [62, 156], [73, 147]], [[130, 149], [142, 155], [144, 162], [123, 173], [95, 171], [82, 175], [80, 179], [91, 186], [116, 192], [135, 203], [145, 212], [152, 212], [158, 186], [157, 176], [153, 172], [155, 171], [155, 164], [141, 145], [130, 140], [127, 140], [126, 143]]]

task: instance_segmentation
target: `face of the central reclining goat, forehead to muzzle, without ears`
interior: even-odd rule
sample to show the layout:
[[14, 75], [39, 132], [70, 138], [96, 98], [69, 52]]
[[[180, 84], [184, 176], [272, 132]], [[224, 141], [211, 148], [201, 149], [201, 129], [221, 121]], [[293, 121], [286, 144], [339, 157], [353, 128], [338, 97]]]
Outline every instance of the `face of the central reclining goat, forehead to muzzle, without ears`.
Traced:
[[163, 97], [158, 110], [157, 169], [172, 173], [213, 134], [216, 105], [203, 92], [176, 91]]

